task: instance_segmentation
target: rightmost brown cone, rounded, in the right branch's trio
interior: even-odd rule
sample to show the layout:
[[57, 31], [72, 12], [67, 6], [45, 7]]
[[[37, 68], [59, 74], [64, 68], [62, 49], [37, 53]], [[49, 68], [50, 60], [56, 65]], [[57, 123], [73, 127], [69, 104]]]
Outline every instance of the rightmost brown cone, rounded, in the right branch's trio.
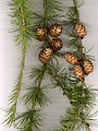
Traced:
[[83, 66], [85, 74], [89, 74], [94, 71], [94, 64], [90, 60], [88, 59], [83, 60]]

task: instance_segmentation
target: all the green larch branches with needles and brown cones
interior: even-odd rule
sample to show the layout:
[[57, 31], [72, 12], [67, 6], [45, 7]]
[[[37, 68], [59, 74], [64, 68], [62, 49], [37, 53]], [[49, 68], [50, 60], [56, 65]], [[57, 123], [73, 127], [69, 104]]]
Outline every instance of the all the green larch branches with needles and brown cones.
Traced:
[[[66, 95], [71, 103], [65, 110], [65, 116], [61, 118], [61, 126], [57, 126], [54, 131], [91, 131], [91, 110], [96, 105], [96, 94], [91, 86], [86, 84], [86, 76], [93, 72], [94, 63], [83, 46], [83, 38], [85, 39], [87, 35], [86, 26], [81, 21], [78, 12], [83, 2], [73, 0], [73, 7], [69, 7], [68, 12], [63, 13], [65, 15], [62, 15], [64, 12], [62, 2], [41, 1], [44, 9], [41, 14], [35, 12], [35, 0], [11, 0], [9, 4], [14, 25], [14, 40], [22, 49], [22, 57], [4, 122], [20, 131], [41, 131], [44, 118], [40, 111], [49, 103], [48, 85], [44, 86], [44, 82], [49, 81], [52, 87], [60, 87], [62, 95]], [[72, 49], [71, 52], [62, 52], [62, 48], [64, 50], [62, 34], [66, 36], [65, 46]], [[33, 39], [41, 43], [40, 48], [38, 47], [40, 64], [30, 69], [28, 78], [32, 83], [25, 84], [26, 91], [21, 97], [26, 51], [28, 43]], [[68, 69], [62, 68], [59, 57], [70, 63]], [[20, 98], [24, 103], [24, 112], [17, 110]]]

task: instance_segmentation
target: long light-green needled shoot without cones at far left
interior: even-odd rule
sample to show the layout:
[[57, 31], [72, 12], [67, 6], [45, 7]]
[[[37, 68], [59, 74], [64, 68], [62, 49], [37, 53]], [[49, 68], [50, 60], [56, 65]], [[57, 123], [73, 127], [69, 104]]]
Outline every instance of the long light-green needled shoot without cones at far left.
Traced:
[[[23, 81], [23, 73], [25, 68], [25, 57], [26, 57], [26, 50], [27, 50], [27, 44], [28, 40], [32, 37], [32, 33], [29, 31], [29, 26], [33, 25], [33, 20], [30, 19], [30, 7], [26, 3], [25, 0], [12, 0], [11, 3], [11, 11], [12, 11], [12, 24], [14, 24], [15, 32], [15, 41], [17, 45], [21, 45], [22, 47], [22, 59], [20, 63], [20, 72], [16, 80], [15, 88], [12, 91], [12, 94], [10, 96], [10, 107], [7, 110], [7, 119], [4, 122], [8, 126], [11, 126], [16, 116], [16, 106], [19, 102], [19, 96], [22, 87], [22, 81]], [[29, 21], [28, 21], [29, 19]]]

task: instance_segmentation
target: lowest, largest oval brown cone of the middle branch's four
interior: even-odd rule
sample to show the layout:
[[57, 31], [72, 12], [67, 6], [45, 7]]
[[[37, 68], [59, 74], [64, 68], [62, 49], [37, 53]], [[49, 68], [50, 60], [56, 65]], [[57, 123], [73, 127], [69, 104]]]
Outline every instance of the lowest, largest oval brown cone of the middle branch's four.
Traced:
[[47, 63], [53, 55], [53, 50], [50, 47], [42, 49], [39, 53], [39, 61], [41, 63]]

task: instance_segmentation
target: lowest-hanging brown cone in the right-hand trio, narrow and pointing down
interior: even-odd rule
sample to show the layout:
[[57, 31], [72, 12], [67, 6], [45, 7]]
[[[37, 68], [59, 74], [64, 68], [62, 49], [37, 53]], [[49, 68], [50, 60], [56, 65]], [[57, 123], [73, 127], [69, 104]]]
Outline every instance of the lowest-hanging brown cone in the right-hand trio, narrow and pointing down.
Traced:
[[83, 72], [83, 70], [82, 70], [82, 68], [81, 68], [79, 64], [75, 64], [75, 66], [74, 66], [74, 74], [75, 74], [75, 76], [76, 76], [77, 79], [79, 79], [81, 81], [84, 80], [84, 72]]

